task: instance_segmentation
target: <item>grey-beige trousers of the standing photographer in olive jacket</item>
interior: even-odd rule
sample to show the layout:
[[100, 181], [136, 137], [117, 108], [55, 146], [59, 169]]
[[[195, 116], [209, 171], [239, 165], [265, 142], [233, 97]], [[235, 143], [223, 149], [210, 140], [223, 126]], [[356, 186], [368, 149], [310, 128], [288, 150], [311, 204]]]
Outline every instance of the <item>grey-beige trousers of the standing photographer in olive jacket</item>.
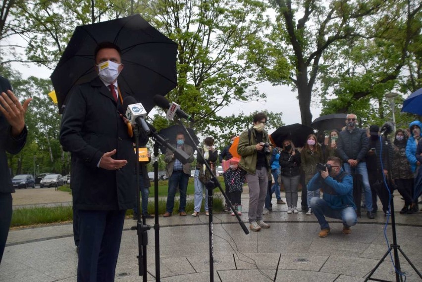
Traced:
[[255, 174], [248, 173], [246, 181], [249, 186], [249, 223], [262, 220], [265, 195], [268, 187], [268, 171], [265, 167], [257, 169]]

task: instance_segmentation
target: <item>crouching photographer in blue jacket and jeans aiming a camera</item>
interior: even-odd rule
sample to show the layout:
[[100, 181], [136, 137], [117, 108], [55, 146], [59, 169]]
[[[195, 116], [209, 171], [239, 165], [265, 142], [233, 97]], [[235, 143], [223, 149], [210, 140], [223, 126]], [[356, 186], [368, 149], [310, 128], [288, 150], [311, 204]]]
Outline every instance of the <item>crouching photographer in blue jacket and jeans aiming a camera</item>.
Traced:
[[356, 205], [353, 201], [353, 178], [341, 168], [341, 160], [329, 157], [326, 164], [317, 165], [317, 174], [308, 183], [308, 190], [321, 188], [322, 199], [313, 197], [311, 207], [321, 226], [319, 237], [326, 237], [330, 227], [325, 217], [341, 219], [343, 234], [350, 234], [356, 225]]

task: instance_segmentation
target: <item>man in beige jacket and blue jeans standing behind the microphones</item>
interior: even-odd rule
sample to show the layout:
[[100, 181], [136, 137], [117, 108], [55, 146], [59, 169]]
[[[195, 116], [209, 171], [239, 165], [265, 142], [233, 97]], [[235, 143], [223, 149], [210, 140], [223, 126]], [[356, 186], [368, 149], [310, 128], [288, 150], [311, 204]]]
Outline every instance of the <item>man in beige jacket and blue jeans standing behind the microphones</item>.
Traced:
[[175, 158], [172, 151], [167, 149], [164, 156], [164, 162], [167, 163], [166, 171], [168, 175], [168, 195], [166, 203], [166, 212], [163, 217], [169, 217], [173, 213], [174, 208], [174, 197], [176, 195], [177, 187], [179, 187], [180, 201], [179, 201], [179, 215], [186, 216], [186, 190], [188, 188], [189, 177], [191, 175], [191, 162], [193, 162], [193, 148], [185, 144], [185, 135], [183, 133], [177, 133], [176, 145], [173, 145], [177, 149], [182, 149], [189, 156], [187, 163], [182, 164], [178, 159]]

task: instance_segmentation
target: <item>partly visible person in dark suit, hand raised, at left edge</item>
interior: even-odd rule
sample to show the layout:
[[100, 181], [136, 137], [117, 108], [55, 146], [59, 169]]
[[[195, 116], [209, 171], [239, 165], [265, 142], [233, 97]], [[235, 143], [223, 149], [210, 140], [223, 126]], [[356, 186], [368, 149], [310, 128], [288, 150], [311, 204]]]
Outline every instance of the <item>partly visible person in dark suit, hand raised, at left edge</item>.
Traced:
[[12, 220], [13, 188], [6, 151], [17, 154], [26, 142], [28, 131], [25, 126], [25, 112], [32, 98], [23, 105], [12, 93], [7, 79], [0, 76], [0, 264]]

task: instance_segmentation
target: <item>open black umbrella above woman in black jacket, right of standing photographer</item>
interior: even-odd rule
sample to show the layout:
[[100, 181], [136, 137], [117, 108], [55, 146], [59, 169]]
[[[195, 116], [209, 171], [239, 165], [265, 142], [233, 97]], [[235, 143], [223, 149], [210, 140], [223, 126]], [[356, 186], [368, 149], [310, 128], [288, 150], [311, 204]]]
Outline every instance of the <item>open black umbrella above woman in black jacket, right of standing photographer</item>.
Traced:
[[314, 134], [314, 130], [312, 128], [295, 123], [277, 128], [273, 133], [271, 133], [271, 139], [277, 147], [280, 148], [283, 147], [283, 141], [286, 139], [290, 139], [295, 146], [302, 147], [310, 134]]

